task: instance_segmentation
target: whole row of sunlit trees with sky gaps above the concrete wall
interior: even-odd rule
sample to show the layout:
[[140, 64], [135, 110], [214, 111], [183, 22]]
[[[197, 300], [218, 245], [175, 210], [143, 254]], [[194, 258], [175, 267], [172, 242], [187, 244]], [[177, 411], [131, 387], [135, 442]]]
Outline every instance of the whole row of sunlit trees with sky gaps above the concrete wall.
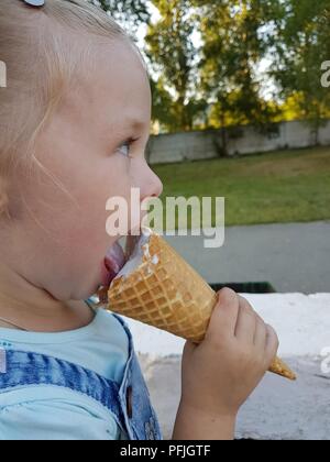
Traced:
[[[321, 86], [330, 59], [329, 0], [99, 3], [148, 63], [154, 133], [250, 124], [276, 136], [278, 122], [304, 120], [310, 142], [320, 141], [330, 118], [330, 92]], [[222, 155], [230, 154], [226, 134]]]

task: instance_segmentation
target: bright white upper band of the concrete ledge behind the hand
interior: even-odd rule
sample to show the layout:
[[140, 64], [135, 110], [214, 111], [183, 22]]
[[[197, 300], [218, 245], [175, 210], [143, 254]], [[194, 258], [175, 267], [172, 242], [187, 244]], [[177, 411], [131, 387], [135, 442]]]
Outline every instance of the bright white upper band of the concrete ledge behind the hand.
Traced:
[[[279, 354], [318, 356], [330, 346], [330, 294], [243, 294], [279, 337]], [[128, 319], [135, 349], [152, 358], [182, 354], [184, 340]]]

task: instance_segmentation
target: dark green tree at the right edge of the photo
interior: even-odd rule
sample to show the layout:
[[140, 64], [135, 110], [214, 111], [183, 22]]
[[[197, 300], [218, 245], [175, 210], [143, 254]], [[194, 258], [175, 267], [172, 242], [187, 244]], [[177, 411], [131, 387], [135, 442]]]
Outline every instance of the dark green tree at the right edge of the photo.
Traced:
[[330, 0], [282, 0], [282, 4], [274, 76], [284, 99], [296, 95], [297, 112], [318, 144], [330, 110], [329, 89], [321, 85], [321, 65], [330, 59]]

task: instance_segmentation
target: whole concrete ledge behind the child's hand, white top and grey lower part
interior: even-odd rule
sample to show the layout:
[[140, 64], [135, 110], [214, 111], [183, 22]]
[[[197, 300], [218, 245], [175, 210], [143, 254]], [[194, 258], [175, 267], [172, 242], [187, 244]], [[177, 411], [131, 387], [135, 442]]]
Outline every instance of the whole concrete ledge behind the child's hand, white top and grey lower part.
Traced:
[[[245, 295], [275, 327], [279, 354], [298, 375], [289, 382], [267, 374], [241, 409], [238, 438], [327, 440], [330, 438], [330, 374], [319, 355], [330, 346], [330, 294]], [[136, 350], [165, 439], [170, 439], [180, 399], [184, 340], [130, 321]], [[166, 358], [167, 356], [167, 358]], [[329, 364], [329, 362], [328, 362]]]

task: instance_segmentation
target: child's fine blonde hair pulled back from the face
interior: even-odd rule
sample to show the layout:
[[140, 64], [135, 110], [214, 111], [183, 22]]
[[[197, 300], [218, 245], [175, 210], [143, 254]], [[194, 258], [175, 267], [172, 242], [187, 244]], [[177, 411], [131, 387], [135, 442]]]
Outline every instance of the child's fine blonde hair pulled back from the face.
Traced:
[[[66, 88], [86, 72], [86, 59], [92, 58], [90, 47], [75, 41], [77, 35], [84, 35], [87, 45], [92, 36], [131, 43], [105, 11], [86, 0], [46, 0], [37, 9], [22, 0], [0, 0], [0, 61], [7, 68], [7, 88], [0, 88], [0, 182], [4, 185], [22, 162], [26, 172], [32, 165], [44, 170], [34, 155], [36, 138]], [[3, 211], [8, 213], [0, 198]]]

